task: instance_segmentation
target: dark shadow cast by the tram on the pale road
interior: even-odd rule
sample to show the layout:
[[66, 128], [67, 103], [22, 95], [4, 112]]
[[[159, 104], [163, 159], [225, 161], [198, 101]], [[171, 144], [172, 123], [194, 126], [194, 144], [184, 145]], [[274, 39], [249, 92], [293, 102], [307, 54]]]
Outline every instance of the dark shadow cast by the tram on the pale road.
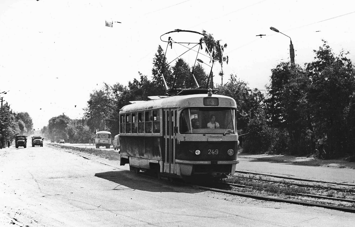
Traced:
[[151, 192], [183, 192], [197, 193], [201, 190], [191, 190], [183, 185], [154, 179], [147, 174], [135, 174], [130, 171], [109, 171], [103, 173], [95, 173], [95, 177], [109, 180], [118, 184], [113, 190], [142, 190]]

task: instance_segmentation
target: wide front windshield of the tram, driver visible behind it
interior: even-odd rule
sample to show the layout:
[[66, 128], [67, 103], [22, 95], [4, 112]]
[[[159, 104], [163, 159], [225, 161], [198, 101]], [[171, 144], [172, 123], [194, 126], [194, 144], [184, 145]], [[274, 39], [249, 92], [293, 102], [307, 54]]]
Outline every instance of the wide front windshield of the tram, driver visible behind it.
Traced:
[[180, 114], [181, 134], [235, 134], [235, 110], [231, 108], [196, 107]]

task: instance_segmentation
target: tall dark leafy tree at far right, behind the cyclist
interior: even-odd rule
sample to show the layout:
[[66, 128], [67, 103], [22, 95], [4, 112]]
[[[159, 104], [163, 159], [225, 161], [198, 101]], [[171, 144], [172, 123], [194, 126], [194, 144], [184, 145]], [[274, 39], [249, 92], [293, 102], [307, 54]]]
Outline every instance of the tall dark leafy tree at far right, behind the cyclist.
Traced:
[[349, 128], [345, 125], [344, 113], [347, 107], [351, 107], [350, 97], [355, 89], [354, 68], [351, 60], [346, 58], [349, 52], [342, 51], [335, 56], [327, 41], [322, 42], [318, 50], [313, 50], [315, 61], [306, 67], [310, 79], [307, 99], [317, 135], [326, 135], [328, 151], [339, 156], [348, 148]]

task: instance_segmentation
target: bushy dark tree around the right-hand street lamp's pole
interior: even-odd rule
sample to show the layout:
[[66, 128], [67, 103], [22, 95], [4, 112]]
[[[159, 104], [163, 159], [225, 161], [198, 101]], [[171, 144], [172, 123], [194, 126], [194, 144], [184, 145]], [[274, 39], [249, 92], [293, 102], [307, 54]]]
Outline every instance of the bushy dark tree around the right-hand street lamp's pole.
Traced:
[[299, 66], [291, 67], [288, 62], [278, 64], [271, 71], [270, 85], [267, 86], [269, 98], [266, 99], [269, 123], [287, 131], [291, 152], [306, 152], [311, 141], [306, 138], [309, 122], [305, 72]]

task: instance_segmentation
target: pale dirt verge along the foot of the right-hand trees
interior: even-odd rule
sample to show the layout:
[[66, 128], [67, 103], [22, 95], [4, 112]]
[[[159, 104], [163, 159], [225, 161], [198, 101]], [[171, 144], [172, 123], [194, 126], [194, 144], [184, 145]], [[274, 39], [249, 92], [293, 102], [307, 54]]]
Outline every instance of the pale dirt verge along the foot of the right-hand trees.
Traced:
[[344, 158], [339, 159], [315, 159], [313, 157], [296, 157], [291, 155], [253, 155], [249, 153], [239, 153], [241, 158], [253, 158], [259, 161], [268, 162], [286, 162], [299, 164], [301, 166], [326, 166], [331, 168], [350, 168], [355, 169], [355, 162], [345, 161]]

